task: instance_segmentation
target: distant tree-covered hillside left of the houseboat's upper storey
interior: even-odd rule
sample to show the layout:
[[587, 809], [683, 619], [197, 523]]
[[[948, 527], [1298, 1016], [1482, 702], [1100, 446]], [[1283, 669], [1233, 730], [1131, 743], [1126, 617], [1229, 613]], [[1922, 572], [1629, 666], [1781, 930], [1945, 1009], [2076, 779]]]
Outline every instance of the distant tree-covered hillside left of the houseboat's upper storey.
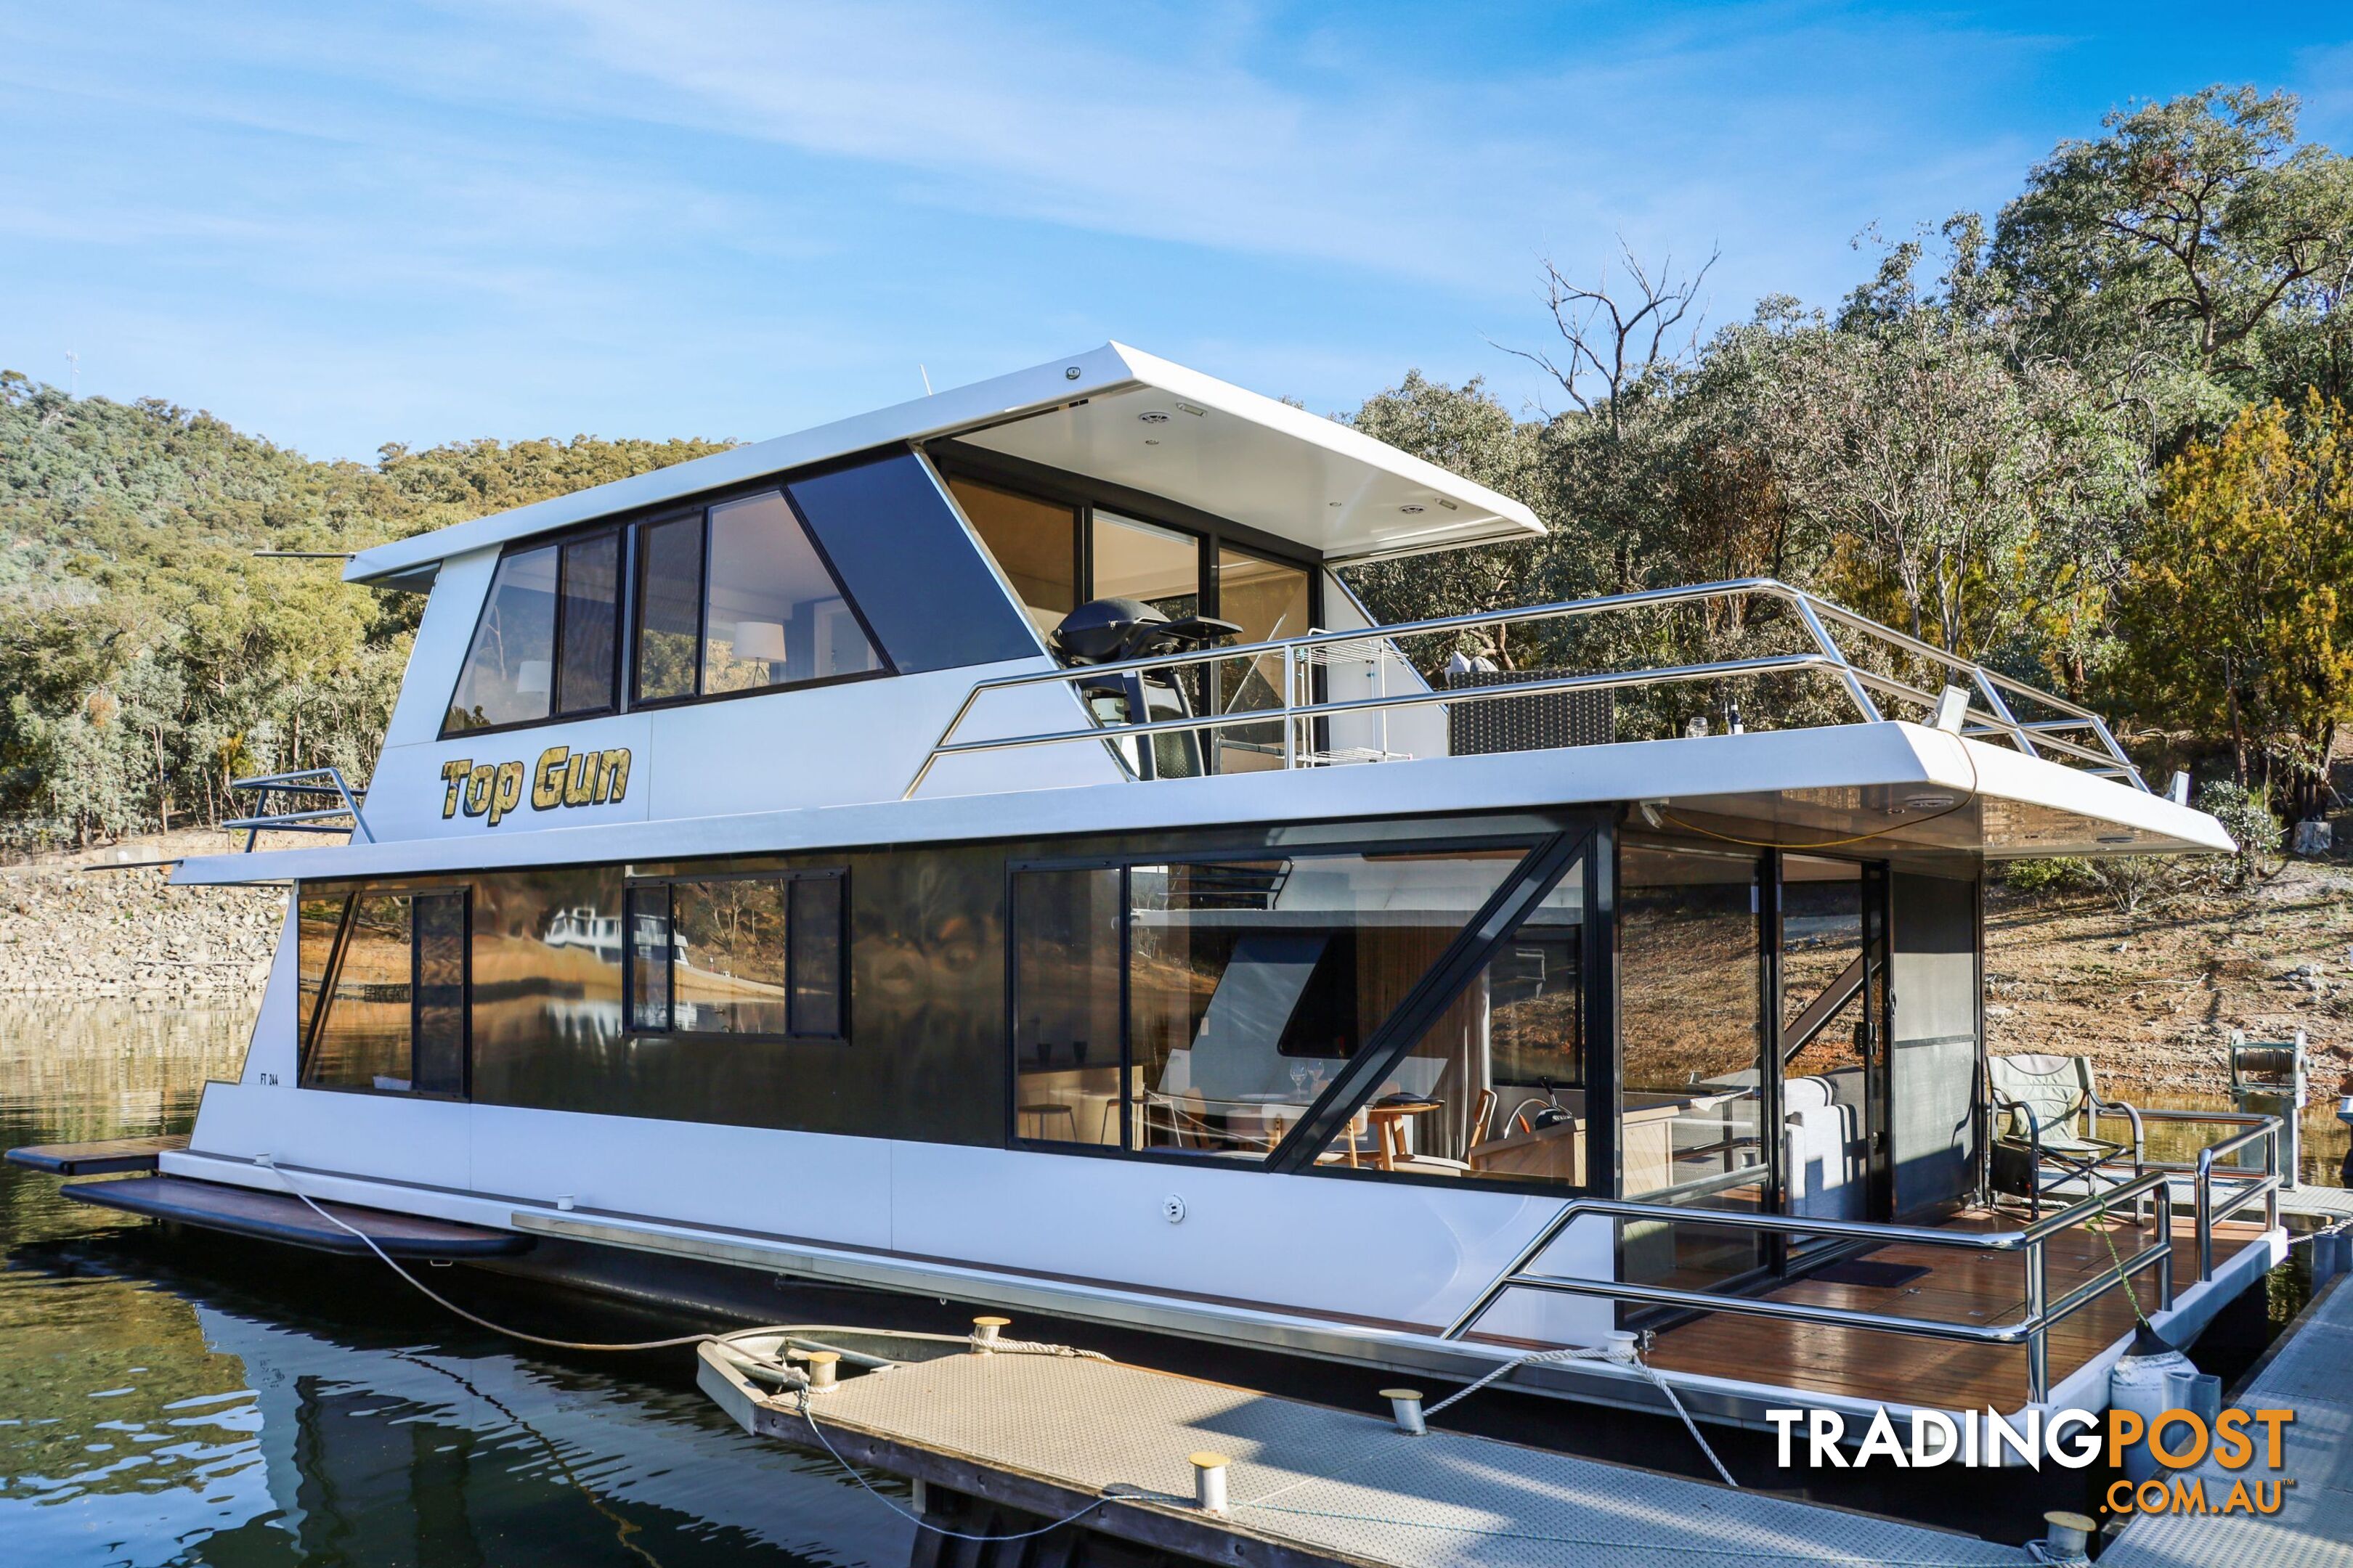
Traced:
[[576, 437], [313, 463], [209, 414], [0, 371], [0, 835], [216, 820], [221, 785], [268, 769], [367, 778], [424, 602], [256, 550], [358, 550], [718, 449]]

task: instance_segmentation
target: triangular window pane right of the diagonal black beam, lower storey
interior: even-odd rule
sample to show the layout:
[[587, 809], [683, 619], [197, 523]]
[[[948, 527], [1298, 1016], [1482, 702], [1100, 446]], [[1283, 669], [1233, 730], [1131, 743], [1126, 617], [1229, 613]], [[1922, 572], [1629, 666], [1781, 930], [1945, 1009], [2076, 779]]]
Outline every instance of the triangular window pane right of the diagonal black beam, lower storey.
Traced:
[[1584, 886], [1577, 860], [1318, 1164], [1584, 1185]]

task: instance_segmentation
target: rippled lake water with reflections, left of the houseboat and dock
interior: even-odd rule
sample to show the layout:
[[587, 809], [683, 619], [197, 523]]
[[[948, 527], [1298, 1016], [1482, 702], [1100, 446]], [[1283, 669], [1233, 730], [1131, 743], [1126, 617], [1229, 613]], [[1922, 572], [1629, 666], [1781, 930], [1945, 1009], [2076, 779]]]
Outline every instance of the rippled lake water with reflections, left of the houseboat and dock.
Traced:
[[[242, 1011], [0, 1006], [7, 1145], [181, 1128]], [[167, 1241], [0, 1168], [9, 1561], [885, 1563], [908, 1533], [753, 1441], [685, 1352], [518, 1356], [381, 1265]], [[532, 1298], [588, 1338], [671, 1331]]]

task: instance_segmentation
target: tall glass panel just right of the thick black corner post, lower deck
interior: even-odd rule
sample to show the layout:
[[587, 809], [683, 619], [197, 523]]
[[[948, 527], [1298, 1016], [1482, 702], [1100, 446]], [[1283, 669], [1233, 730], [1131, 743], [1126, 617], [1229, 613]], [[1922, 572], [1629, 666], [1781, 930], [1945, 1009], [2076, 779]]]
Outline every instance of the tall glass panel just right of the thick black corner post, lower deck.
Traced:
[[[1628, 1199], [1755, 1208], [1765, 1152], [1758, 863], [1628, 839], [1619, 856], [1619, 1171]], [[1626, 1222], [1626, 1279], [1704, 1288], [1758, 1241]]]

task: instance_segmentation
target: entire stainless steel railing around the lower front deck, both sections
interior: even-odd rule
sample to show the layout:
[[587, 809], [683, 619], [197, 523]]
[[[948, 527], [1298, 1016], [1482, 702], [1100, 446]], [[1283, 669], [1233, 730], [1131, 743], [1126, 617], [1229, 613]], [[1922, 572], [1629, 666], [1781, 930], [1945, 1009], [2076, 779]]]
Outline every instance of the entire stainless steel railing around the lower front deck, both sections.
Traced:
[[[2144, 1117], [2179, 1119], [2179, 1121], [2257, 1121], [2261, 1126], [2249, 1126], [2242, 1133], [2224, 1138], [2221, 1143], [2200, 1150], [2195, 1164], [2160, 1164], [2148, 1161], [2141, 1175], [2108, 1187], [2104, 1192], [2087, 1194], [2071, 1204], [2068, 1208], [2035, 1220], [2024, 1229], [2002, 1232], [1955, 1232], [1939, 1229], [1932, 1225], [1875, 1225], [1871, 1220], [1809, 1220], [1805, 1215], [1769, 1215], [1748, 1213], [1739, 1208], [1692, 1208], [1682, 1204], [1647, 1204], [1631, 1199], [1569, 1199], [1537, 1237], [1520, 1248], [1513, 1262], [1497, 1274], [1447, 1328], [1440, 1338], [1459, 1340], [1482, 1319], [1499, 1300], [1511, 1291], [1539, 1291], [1548, 1295], [1584, 1295], [1612, 1302], [1635, 1302], [1645, 1307], [1680, 1307], [1692, 1312], [1727, 1312], [1734, 1316], [1762, 1316], [1786, 1324], [1824, 1324], [1835, 1328], [1866, 1328], [1873, 1333], [1899, 1333], [1929, 1340], [1955, 1340], [1965, 1345], [2021, 1345], [2026, 1349], [2026, 1394], [2031, 1401], [2040, 1403], [2049, 1399], [2049, 1331], [2082, 1309], [2085, 1305], [2099, 1300], [2101, 1295], [2132, 1288], [2132, 1279], [2146, 1269], [2158, 1272], [2158, 1309], [2169, 1309], [2174, 1305], [2174, 1234], [2172, 1234], [2172, 1180], [2177, 1171], [2195, 1173], [2195, 1241], [2198, 1241], [2198, 1279], [2207, 1281], [2214, 1276], [2214, 1227], [2245, 1208], [2261, 1194], [2268, 1194], [2266, 1204], [2266, 1229], [2278, 1227], [2278, 1119], [2275, 1117], [2207, 1117], [2200, 1112], [2141, 1112]], [[2217, 1159], [2235, 1154], [2254, 1143], [2264, 1143], [2266, 1164], [2264, 1173], [2247, 1173], [2247, 1185], [2217, 1208], [2214, 1204], [2214, 1180]], [[2228, 1175], [2228, 1171], [2226, 1171]], [[2049, 1295], [2049, 1253], [2047, 1244], [2052, 1237], [2075, 1229], [2085, 1222], [2101, 1220], [2106, 1215], [2120, 1213], [2129, 1204], [2137, 1227], [2141, 1227], [2144, 1211], [2153, 1211], [2153, 1225], [2146, 1225], [2141, 1246], [2125, 1255], [2111, 1248], [2111, 1262], [2094, 1269], [2071, 1291], [2052, 1300]], [[1666, 1225], [1697, 1225], [1704, 1229], [1744, 1229], [1755, 1234], [1779, 1234], [1779, 1237], [1805, 1237], [1805, 1239], [1833, 1239], [1833, 1241], [1904, 1241], [1913, 1246], [1941, 1246], [1953, 1251], [1979, 1251], [1979, 1253], [2019, 1253], [2024, 1260], [2024, 1309], [2017, 1321], [2007, 1324], [1979, 1324], [1979, 1321], [1953, 1321], [1937, 1316], [1899, 1316], [1892, 1312], [1866, 1312], [1857, 1307], [1824, 1307], [1814, 1302], [1788, 1302], [1772, 1300], [1765, 1295], [1732, 1295], [1720, 1291], [1687, 1291], [1680, 1286], [1647, 1286], [1624, 1279], [1574, 1279], [1562, 1274], [1537, 1274], [1532, 1272], [1537, 1260], [1562, 1237], [1562, 1232], [1577, 1220], [1605, 1218], [1605, 1220], [1649, 1220]], [[2134, 1300], [2139, 1309], [2139, 1300]]]

